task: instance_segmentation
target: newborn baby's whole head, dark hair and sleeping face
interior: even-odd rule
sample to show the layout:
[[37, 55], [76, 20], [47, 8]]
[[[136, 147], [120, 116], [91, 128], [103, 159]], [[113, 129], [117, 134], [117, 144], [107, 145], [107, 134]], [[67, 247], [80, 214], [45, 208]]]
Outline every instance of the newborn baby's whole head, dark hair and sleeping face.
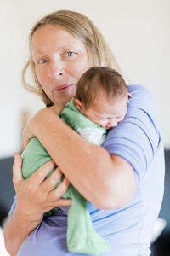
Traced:
[[122, 75], [112, 68], [91, 67], [77, 83], [75, 104], [88, 119], [109, 129], [124, 119], [129, 96]]

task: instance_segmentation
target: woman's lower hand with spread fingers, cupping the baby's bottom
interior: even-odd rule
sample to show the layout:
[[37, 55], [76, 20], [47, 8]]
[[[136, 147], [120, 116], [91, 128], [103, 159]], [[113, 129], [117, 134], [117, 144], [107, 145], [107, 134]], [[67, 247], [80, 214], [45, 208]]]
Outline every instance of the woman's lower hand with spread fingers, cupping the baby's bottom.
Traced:
[[53, 160], [48, 161], [25, 180], [21, 174], [22, 159], [20, 154], [15, 154], [14, 157], [13, 182], [18, 197], [17, 207], [20, 208], [20, 212], [32, 221], [39, 220], [41, 222], [43, 213], [48, 212], [53, 207], [71, 206], [70, 199], [61, 199], [70, 185], [68, 179], [65, 177], [58, 188], [54, 189], [62, 177], [59, 168], [45, 179], [48, 173], [54, 169]]

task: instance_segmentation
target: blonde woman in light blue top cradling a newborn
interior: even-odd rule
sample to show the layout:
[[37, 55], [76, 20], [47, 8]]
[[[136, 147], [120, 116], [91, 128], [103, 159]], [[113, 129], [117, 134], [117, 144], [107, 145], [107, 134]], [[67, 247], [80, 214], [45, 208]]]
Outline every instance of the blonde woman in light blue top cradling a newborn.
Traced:
[[[111, 252], [105, 255], [149, 255], [164, 178], [161, 125], [150, 92], [130, 84], [128, 91], [133, 97], [125, 119], [109, 132], [103, 148], [92, 145], [56, 114], [75, 95], [77, 80], [88, 67], [114, 67], [111, 50], [98, 29], [84, 15], [59, 11], [33, 27], [30, 48], [26, 68], [31, 64], [43, 102], [55, 105], [31, 119], [24, 143], [37, 137], [54, 161], [23, 180], [20, 155], [15, 154], [17, 199], [5, 230], [8, 252], [18, 256], [77, 255], [66, 248], [65, 207], [71, 200], [61, 199], [72, 183], [89, 201], [94, 229], [111, 245]], [[44, 180], [54, 163], [61, 171], [57, 169]], [[54, 190], [62, 173], [65, 179]], [[60, 210], [42, 218], [43, 212], [53, 207]]]

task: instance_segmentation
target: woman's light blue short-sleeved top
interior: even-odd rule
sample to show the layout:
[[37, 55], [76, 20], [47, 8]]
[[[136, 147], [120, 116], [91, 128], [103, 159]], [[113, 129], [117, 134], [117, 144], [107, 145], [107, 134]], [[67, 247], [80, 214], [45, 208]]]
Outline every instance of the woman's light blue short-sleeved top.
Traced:
[[[88, 209], [94, 229], [111, 244], [105, 256], [150, 255], [150, 236], [161, 208], [164, 185], [164, 151], [160, 119], [150, 91], [131, 84], [133, 95], [125, 119], [109, 131], [103, 147], [132, 166], [137, 187], [127, 207], [99, 210], [91, 203]], [[14, 212], [16, 199], [9, 216]], [[17, 256], [77, 256], [66, 249], [66, 208], [45, 218], [20, 247]]]

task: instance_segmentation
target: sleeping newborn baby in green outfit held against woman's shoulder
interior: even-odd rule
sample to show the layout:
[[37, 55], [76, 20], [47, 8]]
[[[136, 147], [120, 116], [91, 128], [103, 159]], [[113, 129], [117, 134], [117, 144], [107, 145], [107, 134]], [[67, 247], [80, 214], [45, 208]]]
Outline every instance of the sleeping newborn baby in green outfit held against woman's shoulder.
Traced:
[[[115, 127], [124, 119], [129, 97], [131, 95], [127, 92], [127, 85], [114, 69], [91, 67], [79, 79], [76, 96], [65, 105], [61, 119], [88, 142], [101, 145], [107, 129]], [[40, 166], [51, 160], [37, 137], [28, 143], [22, 158], [22, 173], [25, 178], [30, 177]], [[58, 185], [59, 183], [55, 188]], [[87, 254], [108, 252], [110, 245], [94, 231], [87, 200], [72, 185], [63, 198], [72, 200], [71, 207], [68, 207], [68, 250]], [[44, 216], [53, 214], [58, 209], [59, 207], [54, 207]]]

